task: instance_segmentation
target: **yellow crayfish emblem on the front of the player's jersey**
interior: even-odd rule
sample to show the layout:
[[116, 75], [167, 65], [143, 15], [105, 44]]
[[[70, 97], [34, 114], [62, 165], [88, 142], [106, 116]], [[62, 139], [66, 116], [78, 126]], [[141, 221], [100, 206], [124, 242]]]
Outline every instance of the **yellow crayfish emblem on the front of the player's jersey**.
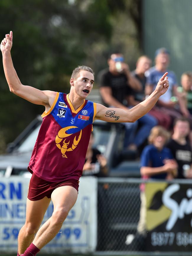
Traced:
[[[74, 149], [77, 147], [79, 141], [81, 140], [82, 129], [81, 129], [81, 131], [80, 131], [80, 133], [79, 133], [78, 139], [76, 140], [76, 137], [77, 137], [77, 136], [75, 136], [71, 148], [68, 148], [70, 140], [69, 140], [68, 142], [66, 142], [66, 139], [64, 139], [64, 138], [66, 138], [66, 137], [72, 135], [72, 133], [70, 133], [70, 134], [67, 134], [67, 133], [66, 133], [67, 130], [72, 129], [72, 128], [78, 128], [78, 127], [77, 127], [77, 126], [67, 126], [67, 127], [65, 127], [65, 128], [62, 128], [61, 130], [59, 130], [59, 132], [58, 132], [58, 134], [57, 134], [57, 136], [56, 136], [56, 138], [55, 138], [56, 146], [61, 150], [61, 153], [62, 153], [62, 157], [63, 157], [63, 158], [67, 158], [67, 156], [66, 156], [65, 153], [66, 153], [67, 151], [72, 151], [72, 150], [74, 150]], [[61, 143], [61, 141], [62, 141], [63, 139], [64, 139], [63, 145], [61, 146], [60, 143]]]

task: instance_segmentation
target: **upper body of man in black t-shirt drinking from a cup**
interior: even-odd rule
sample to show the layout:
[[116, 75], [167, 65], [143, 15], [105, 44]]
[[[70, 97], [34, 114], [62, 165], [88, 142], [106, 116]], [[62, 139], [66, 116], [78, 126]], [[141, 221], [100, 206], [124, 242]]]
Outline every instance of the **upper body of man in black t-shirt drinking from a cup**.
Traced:
[[132, 90], [141, 90], [141, 83], [132, 77], [128, 65], [124, 63], [122, 54], [111, 54], [108, 65], [108, 69], [104, 69], [98, 74], [102, 100], [107, 106], [127, 110], [127, 96], [132, 93]]

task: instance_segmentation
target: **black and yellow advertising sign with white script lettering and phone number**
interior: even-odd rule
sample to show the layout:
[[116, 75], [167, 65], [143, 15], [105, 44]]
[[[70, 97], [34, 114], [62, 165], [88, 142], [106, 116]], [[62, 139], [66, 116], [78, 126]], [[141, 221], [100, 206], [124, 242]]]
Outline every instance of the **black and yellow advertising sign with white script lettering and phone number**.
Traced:
[[192, 250], [192, 184], [148, 183], [147, 250]]

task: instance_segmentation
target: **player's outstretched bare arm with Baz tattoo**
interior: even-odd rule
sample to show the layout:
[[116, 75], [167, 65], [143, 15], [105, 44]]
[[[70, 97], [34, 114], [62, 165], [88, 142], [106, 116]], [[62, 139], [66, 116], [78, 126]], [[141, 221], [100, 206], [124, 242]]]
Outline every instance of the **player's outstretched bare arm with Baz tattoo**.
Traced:
[[121, 108], [106, 108], [101, 104], [97, 104], [95, 119], [107, 122], [135, 122], [141, 116], [147, 114], [155, 105], [159, 97], [167, 91], [169, 87], [167, 74], [168, 72], [161, 77], [156, 89], [146, 100], [131, 109], [123, 110]]

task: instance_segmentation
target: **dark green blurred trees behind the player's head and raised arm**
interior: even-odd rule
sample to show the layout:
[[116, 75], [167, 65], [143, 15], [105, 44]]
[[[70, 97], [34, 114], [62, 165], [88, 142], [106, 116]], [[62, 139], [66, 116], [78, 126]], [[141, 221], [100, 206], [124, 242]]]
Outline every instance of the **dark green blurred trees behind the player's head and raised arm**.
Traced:
[[[13, 31], [12, 59], [22, 84], [40, 90], [69, 92], [70, 75], [77, 65], [89, 65], [97, 74], [107, 65], [107, 54], [115, 47], [133, 64], [139, 53], [135, 18], [139, 17], [138, 2], [1, 0], [0, 35], [3, 39], [6, 33]], [[0, 107], [2, 145], [14, 140], [44, 111], [44, 107], [9, 92], [2, 64]]]

